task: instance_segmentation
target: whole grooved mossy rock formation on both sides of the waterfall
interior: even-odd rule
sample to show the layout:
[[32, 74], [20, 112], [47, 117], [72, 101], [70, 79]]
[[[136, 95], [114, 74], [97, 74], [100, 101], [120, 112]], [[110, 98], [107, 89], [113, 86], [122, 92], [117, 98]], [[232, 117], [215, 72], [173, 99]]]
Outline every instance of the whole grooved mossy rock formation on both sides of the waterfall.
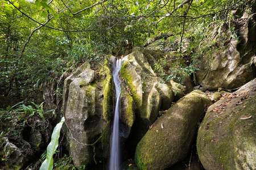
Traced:
[[[170, 108], [174, 100], [184, 96], [185, 87], [175, 82], [159, 83], [154, 63], [163, 53], [135, 48], [133, 53], [122, 58], [120, 71], [120, 130], [122, 147], [128, 155], [135, 148], [149, 126], [158, 117], [160, 110]], [[63, 113], [67, 125], [69, 152], [79, 168], [108, 156], [110, 121], [113, 114], [114, 84], [112, 63], [107, 57], [104, 65], [95, 71], [84, 63], [64, 81]], [[97, 74], [98, 75], [97, 75]]]

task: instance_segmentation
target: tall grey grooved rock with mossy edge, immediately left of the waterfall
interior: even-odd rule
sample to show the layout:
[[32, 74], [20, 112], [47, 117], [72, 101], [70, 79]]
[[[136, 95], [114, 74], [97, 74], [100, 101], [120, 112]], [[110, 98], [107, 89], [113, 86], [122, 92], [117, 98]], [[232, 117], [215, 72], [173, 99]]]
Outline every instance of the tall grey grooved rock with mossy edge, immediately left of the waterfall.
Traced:
[[77, 168], [108, 156], [113, 91], [109, 57], [98, 72], [84, 63], [64, 81], [63, 111], [69, 152]]

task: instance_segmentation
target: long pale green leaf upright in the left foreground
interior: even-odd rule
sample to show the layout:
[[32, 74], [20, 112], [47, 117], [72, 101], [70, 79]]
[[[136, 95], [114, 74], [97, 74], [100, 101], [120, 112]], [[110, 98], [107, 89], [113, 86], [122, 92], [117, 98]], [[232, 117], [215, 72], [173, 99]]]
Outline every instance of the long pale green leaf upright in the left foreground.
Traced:
[[52, 170], [53, 168], [53, 154], [59, 146], [60, 129], [63, 125], [65, 118], [62, 117], [61, 121], [55, 126], [52, 132], [51, 142], [47, 146], [46, 160], [42, 163], [39, 170]]

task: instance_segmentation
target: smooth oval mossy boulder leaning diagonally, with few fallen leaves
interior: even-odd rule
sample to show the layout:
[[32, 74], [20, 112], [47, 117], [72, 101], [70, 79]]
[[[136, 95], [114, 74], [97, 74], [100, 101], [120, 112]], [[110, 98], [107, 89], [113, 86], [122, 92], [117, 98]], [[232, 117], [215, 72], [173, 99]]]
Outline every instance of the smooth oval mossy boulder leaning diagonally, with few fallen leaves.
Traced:
[[210, 104], [207, 95], [195, 90], [168, 109], [138, 143], [139, 169], [166, 169], [183, 160], [196, 138], [197, 122]]

